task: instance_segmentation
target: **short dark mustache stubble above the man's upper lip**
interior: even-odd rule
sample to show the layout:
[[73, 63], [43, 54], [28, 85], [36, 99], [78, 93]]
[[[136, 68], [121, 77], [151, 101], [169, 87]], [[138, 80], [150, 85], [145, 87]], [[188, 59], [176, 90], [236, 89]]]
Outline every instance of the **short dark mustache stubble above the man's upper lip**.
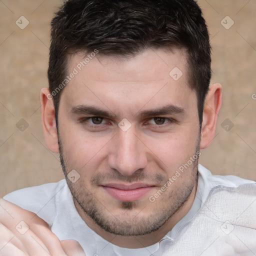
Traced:
[[130, 176], [124, 176], [120, 172], [115, 170], [112, 173], [97, 173], [90, 179], [90, 182], [93, 185], [98, 185], [106, 181], [124, 181], [128, 183], [140, 181], [147, 183], [162, 184], [164, 183], [165, 179], [166, 177], [164, 177], [161, 174], [148, 175], [142, 170], [136, 170]]

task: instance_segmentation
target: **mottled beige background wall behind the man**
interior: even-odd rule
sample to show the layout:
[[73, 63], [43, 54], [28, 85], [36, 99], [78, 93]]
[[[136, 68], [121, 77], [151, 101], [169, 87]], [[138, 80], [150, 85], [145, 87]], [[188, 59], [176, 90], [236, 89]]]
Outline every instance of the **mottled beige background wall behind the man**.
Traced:
[[[49, 22], [61, 2], [0, 0], [0, 196], [63, 177], [58, 155], [44, 143], [39, 109], [40, 88], [47, 86]], [[223, 85], [216, 136], [200, 163], [213, 173], [255, 180], [256, 1], [198, 2], [210, 32], [212, 82]], [[229, 29], [220, 23], [227, 15], [234, 21]], [[15, 24], [20, 16], [29, 21], [24, 29]], [[231, 24], [229, 18], [222, 22]], [[234, 124], [229, 131], [226, 118]]]

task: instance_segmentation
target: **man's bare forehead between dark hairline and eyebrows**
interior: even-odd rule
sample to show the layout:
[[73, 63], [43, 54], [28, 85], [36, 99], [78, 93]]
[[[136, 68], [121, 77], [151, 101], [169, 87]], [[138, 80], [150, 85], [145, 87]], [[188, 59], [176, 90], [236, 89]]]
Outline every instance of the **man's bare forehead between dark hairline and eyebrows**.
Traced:
[[116, 110], [183, 101], [184, 108], [187, 97], [195, 97], [183, 49], [147, 49], [132, 57], [76, 53], [69, 57], [67, 73], [72, 72], [61, 95], [70, 106], [97, 104]]

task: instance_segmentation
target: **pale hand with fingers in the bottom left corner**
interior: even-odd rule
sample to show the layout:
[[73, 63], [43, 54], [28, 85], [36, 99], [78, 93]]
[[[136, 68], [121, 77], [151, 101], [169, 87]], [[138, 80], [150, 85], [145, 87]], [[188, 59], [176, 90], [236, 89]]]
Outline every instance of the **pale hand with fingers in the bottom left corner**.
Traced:
[[0, 198], [0, 256], [86, 256], [75, 240], [60, 241], [35, 213]]

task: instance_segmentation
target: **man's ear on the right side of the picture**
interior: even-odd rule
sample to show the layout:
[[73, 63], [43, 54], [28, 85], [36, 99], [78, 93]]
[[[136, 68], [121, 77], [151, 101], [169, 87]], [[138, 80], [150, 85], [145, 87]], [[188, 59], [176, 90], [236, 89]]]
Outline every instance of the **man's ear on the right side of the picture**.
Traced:
[[219, 83], [209, 86], [203, 107], [200, 149], [206, 148], [214, 138], [221, 97], [222, 87]]

